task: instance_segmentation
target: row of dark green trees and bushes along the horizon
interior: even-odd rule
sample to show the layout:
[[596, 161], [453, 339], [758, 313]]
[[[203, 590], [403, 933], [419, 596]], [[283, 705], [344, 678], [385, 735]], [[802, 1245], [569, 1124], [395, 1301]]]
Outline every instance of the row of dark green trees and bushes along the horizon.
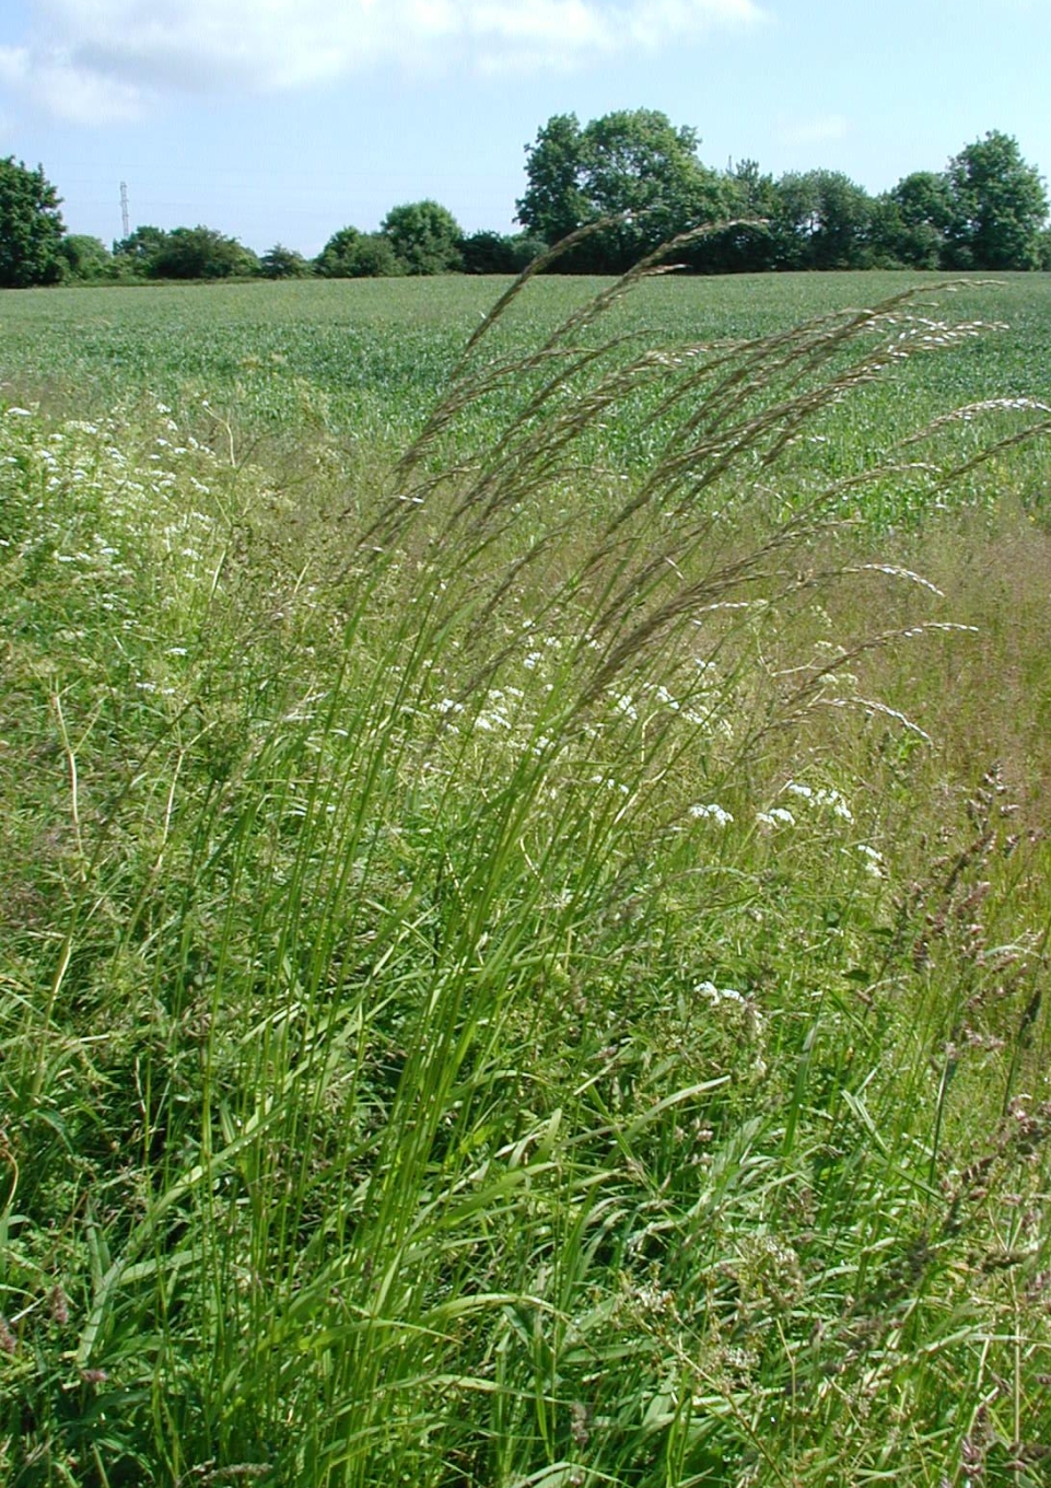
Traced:
[[440, 202], [392, 207], [378, 232], [340, 228], [306, 259], [278, 243], [256, 254], [213, 228], [140, 226], [107, 248], [67, 234], [43, 168], [0, 161], [0, 286], [67, 281], [376, 278], [516, 274], [589, 231], [552, 271], [618, 274], [678, 234], [697, 274], [772, 269], [1051, 269], [1048, 198], [1017, 140], [990, 131], [942, 171], [914, 171], [879, 195], [841, 171], [705, 165], [696, 129], [651, 109], [581, 125], [554, 115], [526, 146], [517, 234], [464, 234]]

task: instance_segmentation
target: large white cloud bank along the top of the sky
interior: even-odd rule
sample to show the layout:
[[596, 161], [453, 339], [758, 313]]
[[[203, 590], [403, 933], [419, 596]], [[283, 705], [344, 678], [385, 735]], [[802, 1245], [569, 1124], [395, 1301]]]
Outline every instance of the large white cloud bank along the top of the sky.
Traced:
[[748, 25], [757, 0], [40, 0], [0, 88], [101, 124], [165, 95], [268, 94], [381, 65], [584, 65]]

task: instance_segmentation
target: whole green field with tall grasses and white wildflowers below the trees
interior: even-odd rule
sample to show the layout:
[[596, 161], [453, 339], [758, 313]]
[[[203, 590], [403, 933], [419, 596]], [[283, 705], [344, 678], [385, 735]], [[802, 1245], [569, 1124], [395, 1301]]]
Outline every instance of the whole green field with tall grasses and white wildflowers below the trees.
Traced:
[[4, 1484], [1047, 1482], [1051, 281], [621, 289], [0, 301]]

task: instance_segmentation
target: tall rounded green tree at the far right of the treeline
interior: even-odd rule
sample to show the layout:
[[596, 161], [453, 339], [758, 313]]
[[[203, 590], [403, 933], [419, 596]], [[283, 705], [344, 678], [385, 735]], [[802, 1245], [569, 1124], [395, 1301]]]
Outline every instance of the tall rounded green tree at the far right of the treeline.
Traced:
[[1018, 141], [992, 129], [945, 171], [953, 201], [947, 256], [953, 268], [1032, 269], [1048, 214], [1044, 182]]

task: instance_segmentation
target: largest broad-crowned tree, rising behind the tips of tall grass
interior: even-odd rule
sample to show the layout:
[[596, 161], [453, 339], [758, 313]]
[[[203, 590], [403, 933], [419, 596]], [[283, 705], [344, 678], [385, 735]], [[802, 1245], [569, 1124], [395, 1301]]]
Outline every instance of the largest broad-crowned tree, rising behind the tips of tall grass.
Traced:
[[560, 266], [620, 272], [678, 232], [718, 222], [727, 192], [697, 158], [697, 132], [653, 109], [618, 110], [583, 129], [556, 115], [526, 147], [529, 186], [517, 216], [549, 243], [601, 217], [598, 232]]

